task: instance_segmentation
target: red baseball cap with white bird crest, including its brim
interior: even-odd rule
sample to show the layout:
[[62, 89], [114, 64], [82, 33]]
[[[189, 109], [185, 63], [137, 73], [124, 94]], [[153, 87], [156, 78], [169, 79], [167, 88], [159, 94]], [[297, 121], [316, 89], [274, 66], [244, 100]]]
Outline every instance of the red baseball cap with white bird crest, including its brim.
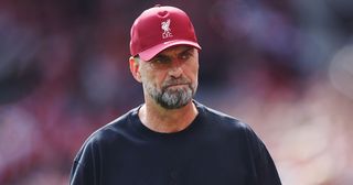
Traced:
[[143, 61], [150, 61], [174, 45], [190, 45], [201, 50], [190, 18], [174, 7], [156, 6], [145, 10], [135, 20], [130, 34], [130, 54], [139, 55]]

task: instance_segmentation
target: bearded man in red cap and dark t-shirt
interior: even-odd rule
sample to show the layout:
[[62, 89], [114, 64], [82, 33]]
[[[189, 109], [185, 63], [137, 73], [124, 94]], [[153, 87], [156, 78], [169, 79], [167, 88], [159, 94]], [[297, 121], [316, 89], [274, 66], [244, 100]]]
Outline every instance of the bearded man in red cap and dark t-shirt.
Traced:
[[247, 124], [193, 100], [200, 51], [182, 10], [154, 7], [137, 18], [129, 64], [145, 104], [87, 139], [72, 185], [280, 184]]

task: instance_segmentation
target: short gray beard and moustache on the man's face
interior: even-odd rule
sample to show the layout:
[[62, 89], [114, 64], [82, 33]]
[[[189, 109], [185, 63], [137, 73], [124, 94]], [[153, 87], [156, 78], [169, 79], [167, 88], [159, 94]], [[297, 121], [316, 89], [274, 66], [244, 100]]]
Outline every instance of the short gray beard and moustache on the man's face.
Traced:
[[196, 87], [193, 87], [192, 85], [176, 89], [171, 89], [164, 86], [161, 90], [158, 90], [151, 84], [143, 84], [143, 86], [149, 96], [165, 109], [179, 109], [186, 106], [192, 100], [196, 91]]

